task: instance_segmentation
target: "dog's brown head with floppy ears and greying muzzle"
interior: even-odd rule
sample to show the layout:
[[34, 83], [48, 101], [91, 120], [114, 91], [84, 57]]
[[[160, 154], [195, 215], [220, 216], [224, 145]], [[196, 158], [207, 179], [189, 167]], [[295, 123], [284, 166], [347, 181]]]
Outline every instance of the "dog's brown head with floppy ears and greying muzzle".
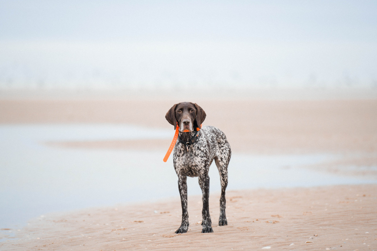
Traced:
[[196, 103], [181, 102], [172, 106], [166, 113], [166, 120], [177, 127], [179, 125], [179, 131], [183, 132], [189, 130], [190, 132], [196, 130], [196, 127], [201, 129], [201, 124], [205, 119], [204, 110]]

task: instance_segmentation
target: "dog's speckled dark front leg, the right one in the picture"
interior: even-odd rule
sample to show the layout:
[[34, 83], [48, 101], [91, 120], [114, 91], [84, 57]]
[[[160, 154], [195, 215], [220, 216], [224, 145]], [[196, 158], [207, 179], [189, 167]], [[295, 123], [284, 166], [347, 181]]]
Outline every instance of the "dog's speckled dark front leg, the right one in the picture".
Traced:
[[202, 189], [202, 200], [203, 200], [203, 210], [202, 210], [202, 233], [213, 233], [212, 230], [212, 222], [210, 216], [210, 208], [209, 208], [209, 198], [210, 198], [210, 177], [200, 177], [199, 176], [199, 186]]

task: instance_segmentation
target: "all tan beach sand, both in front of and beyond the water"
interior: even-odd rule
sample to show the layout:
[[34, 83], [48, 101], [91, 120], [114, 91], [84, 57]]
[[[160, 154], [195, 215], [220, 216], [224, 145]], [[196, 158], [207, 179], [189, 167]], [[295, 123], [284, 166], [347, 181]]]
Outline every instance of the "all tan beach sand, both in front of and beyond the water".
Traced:
[[[171, 129], [164, 116], [180, 100], [2, 99], [2, 125], [125, 123]], [[193, 100], [205, 125], [222, 129], [233, 153], [332, 153], [319, 172], [377, 180], [377, 100]], [[172, 129], [172, 136], [173, 136]], [[68, 149], [167, 149], [169, 139], [48, 141]], [[173, 169], [173, 166], [171, 166]], [[250, 182], [253, 182], [251, 177]], [[376, 182], [377, 183], [377, 182]], [[172, 187], [177, 189], [177, 187]], [[189, 231], [178, 197], [49, 213], [10, 229], [0, 250], [377, 250], [377, 184], [227, 190], [228, 225], [216, 227], [219, 194], [210, 193], [214, 233], [201, 234], [201, 197], [189, 197]]]

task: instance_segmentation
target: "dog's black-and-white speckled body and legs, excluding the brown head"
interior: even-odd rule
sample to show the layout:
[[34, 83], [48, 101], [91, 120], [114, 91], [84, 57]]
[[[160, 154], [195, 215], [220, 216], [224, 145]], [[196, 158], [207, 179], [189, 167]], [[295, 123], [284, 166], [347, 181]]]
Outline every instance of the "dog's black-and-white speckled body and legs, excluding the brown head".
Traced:
[[[196, 105], [196, 104], [195, 104]], [[179, 132], [179, 137], [189, 141], [195, 132]], [[203, 126], [198, 134], [198, 139], [189, 147], [177, 141], [173, 163], [178, 175], [178, 189], [181, 195], [182, 224], [176, 233], [185, 233], [189, 228], [189, 214], [187, 213], [187, 176], [198, 177], [202, 189], [202, 233], [212, 233], [211, 217], [209, 213], [209, 167], [213, 160], [219, 170], [221, 179], [220, 218], [219, 225], [227, 225], [225, 216], [225, 189], [228, 184], [228, 164], [230, 161], [230, 145], [224, 132], [213, 126]]]

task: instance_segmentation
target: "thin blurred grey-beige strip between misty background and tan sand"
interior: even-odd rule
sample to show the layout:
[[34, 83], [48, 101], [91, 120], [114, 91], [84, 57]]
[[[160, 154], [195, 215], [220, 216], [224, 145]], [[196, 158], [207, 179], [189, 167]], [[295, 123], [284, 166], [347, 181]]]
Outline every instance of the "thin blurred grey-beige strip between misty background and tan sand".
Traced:
[[0, 100], [375, 100], [377, 87], [349, 88], [201, 88], [202, 92], [188, 89], [64, 89], [30, 88], [0, 89]]

